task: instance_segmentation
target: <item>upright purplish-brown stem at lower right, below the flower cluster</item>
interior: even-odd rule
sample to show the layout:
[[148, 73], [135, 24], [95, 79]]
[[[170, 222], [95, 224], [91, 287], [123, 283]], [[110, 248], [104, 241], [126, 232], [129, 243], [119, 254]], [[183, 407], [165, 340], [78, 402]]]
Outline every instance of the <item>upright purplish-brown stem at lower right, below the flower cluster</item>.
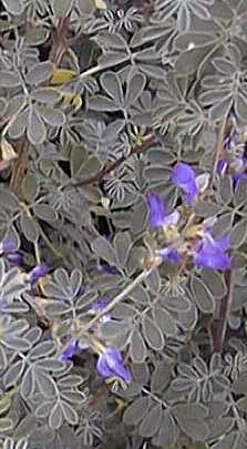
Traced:
[[228, 271], [225, 274], [227, 294], [222, 299], [219, 308], [219, 318], [213, 329], [213, 347], [215, 353], [222, 353], [226, 336], [227, 319], [229, 317], [230, 306], [234, 297], [234, 275], [233, 271]]

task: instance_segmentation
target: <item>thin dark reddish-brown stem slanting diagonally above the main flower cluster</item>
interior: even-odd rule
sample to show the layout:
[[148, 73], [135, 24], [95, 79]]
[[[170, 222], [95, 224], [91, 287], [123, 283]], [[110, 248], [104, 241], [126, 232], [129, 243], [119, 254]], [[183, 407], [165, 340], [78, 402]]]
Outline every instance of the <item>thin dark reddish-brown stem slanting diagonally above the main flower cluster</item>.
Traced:
[[155, 142], [155, 136], [153, 134], [148, 134], [143, 139], [142, 144], [135, 145], [131, 149], [130, 153], [125, 156], [119, 157], [116, 161], [113, 162], [106, 162], [106, 164], [103, 166], [103, 169], [99, 170], [99, 172], [83, 177], [81, 180], [71, 180], [69, 184], [64, 186], [65, 187], [82, 187], [83, 185], [88, 184], [94, 184], [99, 183], [106, 174], [113, 172], [116, 170], [121, 164], [123, 164], [124, 161], [126, 161], [128, 157], [133, 156], [134, 154], [141, 154], [145, 150], [150, 147], [152, 143]]

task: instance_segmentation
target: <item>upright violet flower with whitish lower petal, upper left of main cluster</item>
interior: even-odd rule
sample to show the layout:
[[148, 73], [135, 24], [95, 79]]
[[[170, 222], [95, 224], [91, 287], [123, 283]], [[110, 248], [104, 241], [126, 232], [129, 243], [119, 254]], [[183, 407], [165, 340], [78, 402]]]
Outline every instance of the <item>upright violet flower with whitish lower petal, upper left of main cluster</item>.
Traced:
[[177, 225], [179, 213], [175, 211], [172, 214], [167, 214], [165, 204], [158, 195], [148, 193], [146, 200], [150, 210], [150, 227], [152, 229], [155, 227]]

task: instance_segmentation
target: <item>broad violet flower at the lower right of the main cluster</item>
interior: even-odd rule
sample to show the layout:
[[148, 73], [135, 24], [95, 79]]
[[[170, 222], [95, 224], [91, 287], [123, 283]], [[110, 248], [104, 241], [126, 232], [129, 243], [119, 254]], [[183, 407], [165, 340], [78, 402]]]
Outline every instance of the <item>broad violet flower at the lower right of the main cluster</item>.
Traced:
[[195, 264], [198, 268], [218, 269], [225, 272], [230, 267], [230, 258], [226, 254], [229, 247], [229, 236], [223, 235], [218, 239], [206, 233], [202, 245], [195, 252]]

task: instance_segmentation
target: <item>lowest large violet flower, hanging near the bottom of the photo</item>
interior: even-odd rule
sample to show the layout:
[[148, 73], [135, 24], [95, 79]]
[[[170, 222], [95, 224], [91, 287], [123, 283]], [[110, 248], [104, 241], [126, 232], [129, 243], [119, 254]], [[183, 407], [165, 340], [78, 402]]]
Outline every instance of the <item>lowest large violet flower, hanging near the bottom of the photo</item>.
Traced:
[[104, 378], [119, 377], [126, 384], [131, 381], [131, 373], [123, 365], [119, 349], [106, 348], [99, 357], [96, 364], [97, 371]]

